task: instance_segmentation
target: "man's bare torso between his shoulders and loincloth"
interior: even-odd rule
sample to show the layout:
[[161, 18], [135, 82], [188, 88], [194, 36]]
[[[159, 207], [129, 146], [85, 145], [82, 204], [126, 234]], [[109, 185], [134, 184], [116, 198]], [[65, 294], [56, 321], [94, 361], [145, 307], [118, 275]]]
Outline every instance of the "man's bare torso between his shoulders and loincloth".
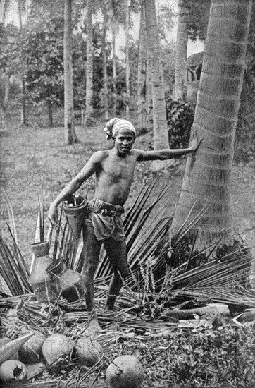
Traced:
[[138, 150], [131, 150], [125, 157], [119, 157], [113, 150], [101, 151], [96, 170], [95, 198], [113, 205], [124, 205], [138, 157]]

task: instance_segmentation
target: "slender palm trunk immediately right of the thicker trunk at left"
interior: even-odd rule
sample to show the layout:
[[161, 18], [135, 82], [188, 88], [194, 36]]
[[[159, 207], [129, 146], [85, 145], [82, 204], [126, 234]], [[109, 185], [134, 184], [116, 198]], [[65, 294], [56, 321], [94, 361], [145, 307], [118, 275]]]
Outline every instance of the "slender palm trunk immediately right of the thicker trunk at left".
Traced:
[[88, 125], [93, 120], [93, 42], [92, 42], [92, 7], [93, 0], [87, 0], [87, 43], [86, 43], [86, 106], [85, 123]]

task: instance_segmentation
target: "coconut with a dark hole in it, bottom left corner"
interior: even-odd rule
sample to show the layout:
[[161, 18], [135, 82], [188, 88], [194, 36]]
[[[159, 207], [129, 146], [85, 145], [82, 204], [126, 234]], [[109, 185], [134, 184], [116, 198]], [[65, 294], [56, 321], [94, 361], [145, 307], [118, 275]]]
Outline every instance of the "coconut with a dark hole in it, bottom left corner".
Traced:
[[7, 360], [0, 365], [0, 379], [3, 382], [25, 379], [27, 368], [18, 360]]

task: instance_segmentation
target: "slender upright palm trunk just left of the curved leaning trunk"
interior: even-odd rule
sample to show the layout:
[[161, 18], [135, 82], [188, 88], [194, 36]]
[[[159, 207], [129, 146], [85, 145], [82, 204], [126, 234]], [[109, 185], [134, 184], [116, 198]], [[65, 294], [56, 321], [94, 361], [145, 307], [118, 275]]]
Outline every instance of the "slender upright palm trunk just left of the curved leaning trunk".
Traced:
[[145, 13], [142, 7], [139, 30], [139, 47], [138, 47], [138, 72], [137, 72], [137, 107], [138, 107], [138, 128], [145, 128], [147, 119], [147, 46], [146, 46], [146, 30], [145, 30]]

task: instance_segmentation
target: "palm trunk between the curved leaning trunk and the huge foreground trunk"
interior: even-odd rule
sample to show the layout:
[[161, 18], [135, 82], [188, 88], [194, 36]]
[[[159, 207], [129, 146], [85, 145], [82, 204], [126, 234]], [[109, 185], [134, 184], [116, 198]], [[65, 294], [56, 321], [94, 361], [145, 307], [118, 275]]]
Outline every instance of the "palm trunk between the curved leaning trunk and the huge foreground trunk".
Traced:
[[187, 85], [187, 23], [180, 12], [175, 56], [175, 99], [183, 99]]

